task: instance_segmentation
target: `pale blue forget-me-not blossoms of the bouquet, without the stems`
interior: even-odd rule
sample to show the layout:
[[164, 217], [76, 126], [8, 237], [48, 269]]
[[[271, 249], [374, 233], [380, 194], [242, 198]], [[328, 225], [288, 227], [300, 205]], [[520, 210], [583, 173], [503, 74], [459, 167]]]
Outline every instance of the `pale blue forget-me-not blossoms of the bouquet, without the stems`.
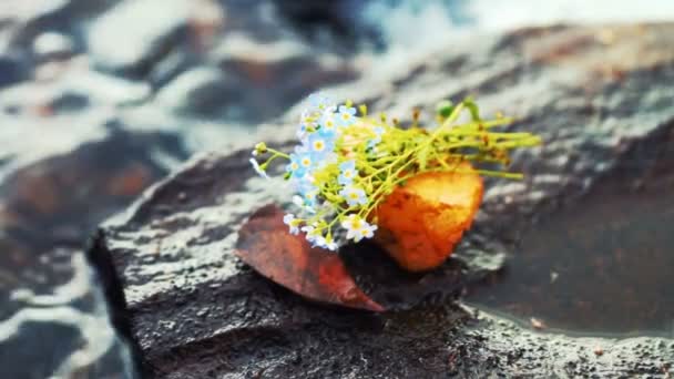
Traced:
[[[308, 99], [309, 106], [302, 113], [297, 127], [299, 144], [287, 155], [285, 178], [293, 183], [296, 195], [293, 203], [308, 217], [288, 213], [284, 223], [290, 233], [306, 234], [314, 245], [336, 250], [334, 236], [336, 222], [346, 231], [346, 238], [359, 242], [371, 238], [377, 229], [368, 223], [360, 211], [369, 198], [360, 183], [356, 160], [340, 154], [344, 136], [349, 130], [361, 127], [360, 117], [350, 103], [337, 105], [329, 98], [316, 93]], [[347, 133], [345, 133], [347, 131]], [[382, 127], [372, 129], [368, 145], [374, 148], [381, 141]], [[268, 177], [266, 164], [259, 165], [255, 158], [266, 152], [258, 145], [251, 163], [255, 171]], [[330, 223], [326, 216], [334, 217]]]

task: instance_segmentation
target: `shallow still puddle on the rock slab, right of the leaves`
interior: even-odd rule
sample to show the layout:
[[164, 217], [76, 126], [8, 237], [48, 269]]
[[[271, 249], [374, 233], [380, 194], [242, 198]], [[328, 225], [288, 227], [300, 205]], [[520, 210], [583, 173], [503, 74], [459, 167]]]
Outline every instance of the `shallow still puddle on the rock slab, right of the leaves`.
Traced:
[[672, 204], [672, 183], [594, 191], [531, 225], [468, 303], [575, 335], [674, 337]]

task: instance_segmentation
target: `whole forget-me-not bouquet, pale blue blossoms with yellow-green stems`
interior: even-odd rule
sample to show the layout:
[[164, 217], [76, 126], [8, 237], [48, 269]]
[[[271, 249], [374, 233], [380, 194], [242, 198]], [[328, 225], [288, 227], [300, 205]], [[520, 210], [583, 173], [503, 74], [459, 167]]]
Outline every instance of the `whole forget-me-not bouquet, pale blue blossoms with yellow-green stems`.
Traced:
[[[284, 178], [293, 185], [298, 212], [286, 214], [284, 223], [292, 234], [304, 233], [313, 246], [329, 250], [338, 248], [339, 227], [347, 240], [371, 238], [377, 231], [377, 206], [406, 178], [421, 172], [450, 171], [457, 166], [451, 163], [462, 161], [507, 163], [508, 150], [539, 142], [529, 133], [489, 132], [489, 127], [510, 120], [482, 121], [470, 100], [439, 110], [440, 125], [432, 133], [417, 127], [416, 120], [412, 127], [404, 130], [387, 123], [384, 114], [368, 117], [366, 106], [359, 106], [358, 113], [351, 102], [337, 104], [320, 93], [310, 95], [308, 103], [297, 126], [299, 144], [293, 152], [258, 143], [251, 163], [261, 176], [269, 178], [269, 164], [277, 158], [287, 161]], [[472, 122], [456, 125], [466, 109]], [[259, 164], [262, 155], [268, 157]]]

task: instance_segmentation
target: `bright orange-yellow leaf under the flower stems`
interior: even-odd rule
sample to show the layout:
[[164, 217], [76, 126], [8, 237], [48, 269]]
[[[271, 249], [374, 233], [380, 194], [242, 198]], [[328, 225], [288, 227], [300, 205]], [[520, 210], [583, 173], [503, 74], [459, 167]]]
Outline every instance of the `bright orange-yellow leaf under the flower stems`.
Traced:
[[376, 239], [410, 272], [431, 269], [450, 255], [482, 201], [482, 178], [469, 163], [456, 172], [423, 173], [378, 207]]

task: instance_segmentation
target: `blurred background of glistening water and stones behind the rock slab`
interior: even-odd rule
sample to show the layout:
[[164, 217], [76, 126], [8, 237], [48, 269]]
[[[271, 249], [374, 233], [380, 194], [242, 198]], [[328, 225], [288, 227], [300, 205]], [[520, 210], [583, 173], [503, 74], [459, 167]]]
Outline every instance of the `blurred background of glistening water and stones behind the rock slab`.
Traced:
[[249, 145], [317, 89], [386, 88], [464, 35], [672, 19], [664, 0], [0, 2], [2, 377], [133, 376], [82, 250], [192, 153]]

